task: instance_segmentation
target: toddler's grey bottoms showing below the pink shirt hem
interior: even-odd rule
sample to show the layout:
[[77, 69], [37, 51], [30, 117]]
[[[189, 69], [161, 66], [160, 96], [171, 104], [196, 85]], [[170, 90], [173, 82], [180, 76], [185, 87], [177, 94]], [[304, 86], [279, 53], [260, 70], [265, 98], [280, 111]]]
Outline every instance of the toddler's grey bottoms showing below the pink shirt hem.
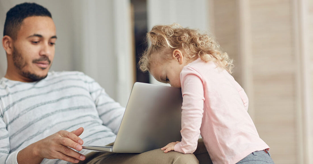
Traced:
[[269, 152], [267, 150], [254, 151], [248, 156], [244, 157], [238, 163], [240, 164], [274, 164]]

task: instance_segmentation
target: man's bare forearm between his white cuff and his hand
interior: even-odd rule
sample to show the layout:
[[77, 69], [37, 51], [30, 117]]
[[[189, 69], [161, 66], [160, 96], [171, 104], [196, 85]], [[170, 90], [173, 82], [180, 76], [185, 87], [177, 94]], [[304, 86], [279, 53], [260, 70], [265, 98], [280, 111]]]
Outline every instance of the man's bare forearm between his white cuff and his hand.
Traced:
[[18, 152], [18, 164], [40, 164], [44, 158], [38, 155], [36, 143], [33, 143]]

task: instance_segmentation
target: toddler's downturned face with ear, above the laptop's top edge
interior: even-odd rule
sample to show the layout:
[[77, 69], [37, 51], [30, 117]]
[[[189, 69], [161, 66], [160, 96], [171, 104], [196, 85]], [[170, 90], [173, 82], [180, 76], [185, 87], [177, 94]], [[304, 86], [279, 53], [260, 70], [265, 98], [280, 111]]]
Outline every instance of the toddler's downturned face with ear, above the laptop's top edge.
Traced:
[[172, 87], [181, 88], [180, 72], [187, 63], [183, 59], [181, 52], [178, 53], [180, 53], [180, 56], [179, 54], [173, 53], [173, 59], [152, 64], [150, 73], [159, 82], [168, 83]]

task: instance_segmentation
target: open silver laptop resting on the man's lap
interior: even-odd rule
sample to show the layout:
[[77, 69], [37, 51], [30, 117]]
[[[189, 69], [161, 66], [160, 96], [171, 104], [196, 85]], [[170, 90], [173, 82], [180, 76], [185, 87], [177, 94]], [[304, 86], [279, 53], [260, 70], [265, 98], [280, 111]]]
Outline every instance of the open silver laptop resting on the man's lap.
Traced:
[[114, 145], [83, 146], [83, 149], [142, 153], [181, 141], [181, 107], [180, 88], [136, 82]]

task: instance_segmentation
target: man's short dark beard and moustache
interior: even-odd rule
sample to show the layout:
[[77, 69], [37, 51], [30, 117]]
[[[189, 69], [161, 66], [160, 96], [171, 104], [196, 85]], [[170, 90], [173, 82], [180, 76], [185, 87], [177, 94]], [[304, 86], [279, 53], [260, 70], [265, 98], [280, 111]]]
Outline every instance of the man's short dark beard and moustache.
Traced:
[[[17, 49], [15, 49], [15, 47], [13, 47], [12, 58], [13, 58], [14, 66], [19, 69], [22, 76], [24, 76], [28, 79], [32, 79], [33, 81], [38, 81], [38, 80], [44, 79], [48, 76], [48, 74], [46, 74], [44, 76], [39, 76], [39, 75], [31, 73], [29, 71], [24, 71], [23, 68], [25, 66], [27, 66], [27, 62], [23, 59], [23, 56], [18, 52]], [[49, 64], [51, 63], [51, 61], [49, 60], [49, 58], [47, 56], [42, 56], [39, 59], [35, 59], [35, 60], [33, 60], [33, 63], [38, 62], [38, 61], [48, 61]]]

